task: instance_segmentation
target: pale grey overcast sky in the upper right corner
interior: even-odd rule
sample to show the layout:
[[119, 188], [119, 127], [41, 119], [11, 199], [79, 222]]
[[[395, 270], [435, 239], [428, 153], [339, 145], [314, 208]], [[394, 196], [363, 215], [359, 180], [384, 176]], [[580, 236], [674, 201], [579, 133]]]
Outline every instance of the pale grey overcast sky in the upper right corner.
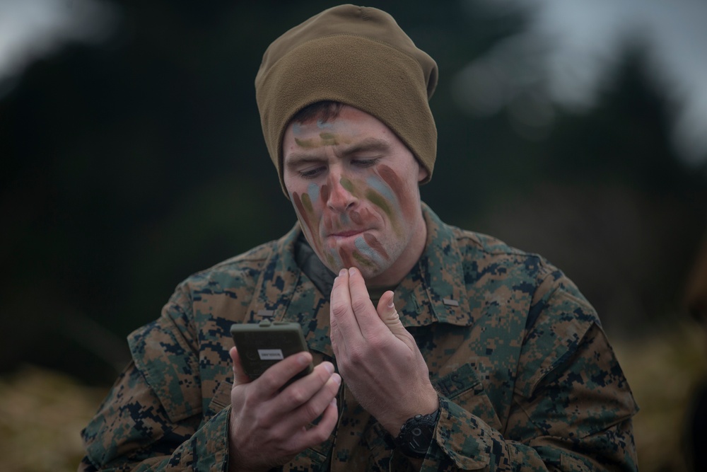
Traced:
[[[673, 117], [679, 156], [687, 163], [707, 158], [707, 0], [479, 1], [491, 10], [523, 6], [533, 16], [525, 33], [455, 78], [470, 112], [490, 115], [508, 106], [520, 132], [542, 137], [554, 105], [590, 108], [621, 46], [640, 42], [654, 83], [681, 104]], [[513, 108], [517, 103], [524, 106]]]

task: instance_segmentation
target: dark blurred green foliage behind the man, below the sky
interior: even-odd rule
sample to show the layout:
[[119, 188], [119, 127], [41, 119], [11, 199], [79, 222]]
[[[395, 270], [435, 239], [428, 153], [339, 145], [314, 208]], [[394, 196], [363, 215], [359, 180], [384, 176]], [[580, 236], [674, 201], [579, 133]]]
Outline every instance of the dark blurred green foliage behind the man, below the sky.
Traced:
[[[124, 336], [156, 318], [178, 282], [295, 223], [253, 81], [271, 40], [334, 4], [116, 1], [107, 42], [36, 62], [0, 98], [0, 316], [13, 326], [0, 370], [32, 362], [105, 385], [127, 358]], [[529, 139], [506, 110], [465, 113], [451, 86], [522, 31], [525, 13], [370, 5], [440, 67], [439, 158], [423, 200], [452, 224], [545, 255], [612, 330], [678, 317], [706, 173], [674, 155], [673, 104], [650, 85], [641, 48], [627, 48], [596, 108], [558, 109], [549, 135]]]

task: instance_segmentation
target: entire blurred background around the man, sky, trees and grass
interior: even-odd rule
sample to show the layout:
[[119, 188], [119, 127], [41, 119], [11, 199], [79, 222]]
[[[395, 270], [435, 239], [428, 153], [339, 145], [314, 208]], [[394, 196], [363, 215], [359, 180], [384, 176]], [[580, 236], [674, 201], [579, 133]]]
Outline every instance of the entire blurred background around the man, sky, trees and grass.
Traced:
[[[338, 3], [0, 0], [0, 469], [74, 470], [125, 336], [192, 272], [294, 224], [253, 81], [271, 40]], [[641, 406], [641, 469], [687, 470], [707, 3], [366, 5], [438, 62], [423, 200], [578, 284]]]

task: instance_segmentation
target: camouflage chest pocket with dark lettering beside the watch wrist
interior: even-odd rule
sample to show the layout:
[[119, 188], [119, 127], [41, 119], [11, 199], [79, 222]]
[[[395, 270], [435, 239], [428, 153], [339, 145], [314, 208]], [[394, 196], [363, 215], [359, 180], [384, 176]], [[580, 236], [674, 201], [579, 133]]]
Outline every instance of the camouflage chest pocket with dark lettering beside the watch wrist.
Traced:
[[443, 396], [481, 418], [487, 425], [499, 431], [503, 427], [484, 384], [470, 364], [463, 364], [454, 372], [433, 379], [433, 384]]

